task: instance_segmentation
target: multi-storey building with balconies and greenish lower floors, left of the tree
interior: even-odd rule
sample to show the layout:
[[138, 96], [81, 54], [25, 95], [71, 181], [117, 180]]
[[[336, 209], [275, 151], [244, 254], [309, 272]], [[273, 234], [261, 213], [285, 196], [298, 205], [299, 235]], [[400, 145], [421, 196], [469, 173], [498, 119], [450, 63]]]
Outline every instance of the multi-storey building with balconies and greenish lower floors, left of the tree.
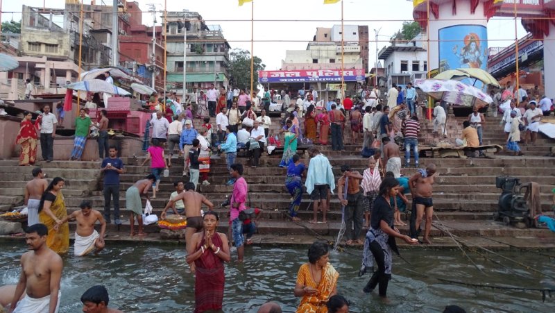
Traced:
[[[228, 87], [228, 40], [219, 25], [205, 24], [198, 12], [183, 10], [167, 12], [167, 87], [183, 91], [193, 86], [206, 88], [210, 84]], [[185, 40], [187, 40], [185, 42]], [[185, 64], [184, 64], [185, 58]]]

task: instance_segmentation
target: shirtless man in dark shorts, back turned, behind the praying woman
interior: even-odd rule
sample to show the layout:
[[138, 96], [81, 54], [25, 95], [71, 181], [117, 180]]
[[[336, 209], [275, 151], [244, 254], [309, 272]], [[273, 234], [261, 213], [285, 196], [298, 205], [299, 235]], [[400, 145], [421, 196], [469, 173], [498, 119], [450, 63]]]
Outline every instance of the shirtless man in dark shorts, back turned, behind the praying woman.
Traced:
[[[195, 232], [203, 230], [203, 216], [200, 214], [200, 208], [202, 208], [203, 203], [209, 210], [212, 210], [214, 205], [205, 196], [195, 191], [194, 183], [189, 182], [185, 184], [185, 192], [178, 194], [168, 202], [166, 208], [164, 208], [162, 214], [160, 214], [160, 218], [165, 219], [168, 208], [173, 206], [173, 203], [180, 200], [185, 204], [185, 216], [187, 217], [185, 244], [188, 244], [191, 242], [191, 237], [193, 237]], [[194, 264], [191, 263], [189, 265], [191, 265], [191, 271], [194, 271]]]

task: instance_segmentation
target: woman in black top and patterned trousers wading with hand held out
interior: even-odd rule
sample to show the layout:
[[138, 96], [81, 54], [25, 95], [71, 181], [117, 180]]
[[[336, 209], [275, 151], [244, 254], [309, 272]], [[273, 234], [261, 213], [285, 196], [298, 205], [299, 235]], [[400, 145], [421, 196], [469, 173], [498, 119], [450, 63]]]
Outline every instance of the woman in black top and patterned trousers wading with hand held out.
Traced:
[[397, 195], [399, 183], [395, 178], [385, 178], [379, 185], [379, 196], [374, 201], [370, 230], [366, 233], [364, 255], [360, 276], [366, 273], [368, 267], [373, 268], [374, 260], [377, 271], [364, 287], [364, 292], [370, 293], [379, 285], [379, 296], [386, 297], [387, 285], [391, 279], [392, 251], [399, 254], [395, 237], [403, 239], [407, 244], [418, 244], [417, 240], [407, 235], [401, 235], [393, 226], [393, 208], [389, 203], [390, 197]]

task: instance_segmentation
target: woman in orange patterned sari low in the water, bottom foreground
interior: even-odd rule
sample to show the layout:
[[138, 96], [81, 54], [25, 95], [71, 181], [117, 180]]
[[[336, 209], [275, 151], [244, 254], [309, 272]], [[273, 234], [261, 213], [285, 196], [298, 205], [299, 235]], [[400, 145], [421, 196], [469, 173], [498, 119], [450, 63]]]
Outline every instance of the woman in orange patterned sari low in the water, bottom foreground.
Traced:
[[314, 242], [308, 249], [308, 263], [300, 266], [293, 293], [302, 297], [297, 313], [327, 313], [326, 303], [337, 293], [339, 273], [328, 262], [325, 242]]

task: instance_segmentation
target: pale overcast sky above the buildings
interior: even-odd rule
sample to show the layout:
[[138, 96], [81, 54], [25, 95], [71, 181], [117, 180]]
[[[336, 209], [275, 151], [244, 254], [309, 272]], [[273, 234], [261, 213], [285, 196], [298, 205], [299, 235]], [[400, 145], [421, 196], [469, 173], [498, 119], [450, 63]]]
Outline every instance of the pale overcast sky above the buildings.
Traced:
[[[285, 58], [285, 50], [306, 49], [316, 27], [331, 27], [341, 24], [341, 3], [323, 5], [323, 0], [254, 0], [255, 1], [255, 56], [262, 58], [266, 69], [279, 69]], [[344, 0], [345, 24], [368, 25], [370, 40], [375, 39], [374, 29], [381, 28], [378, 48], [388, 45], [388, 39], [401, 28], [402, 21], [412, 20], [412, 2], [407, 0]], [[43, 0], [25, 0], [27, 6], [42, 7]], [[85, 4], [90, 3], [85, 0]], [[101, 3], [97, 0], [96, 4]], [[105, 0], [110, 5], [112, 1]], [[144, 12], [147, 3], [157, 4], [164, 10], [163, 0], [139, 1]], [[250, 50], [250, 3], [237, 6], [237, 0], [167, 0], [167, 10], [183, 9], [197, 11], [207, 24], [220, 24], [223, 34], [232, 48]], [[385, 6], [382, 3], [387, 3]], [[49, 8], [64, 8], [64, 0], [46, 1]], [[3, 1], [2, 21], [21, 19], [22, 1]], [[248, 21], [246, 21], [248, 20]], [[275, 20], [287, 20], [286, 22]], [[370, 21], [373, 20], [373, 21]], [[389, 20], [389, 21], [385, 21]], [[309, 21], [309, 22], [306, 22]], [[314, 22], [312, 22], [314, 21]], [[162, 19], [157, 18], [158, 24]], [[143, 23], [152, 24], [152, 16], [143, 15]], [[491, 19], [488, 23], [488, 46], [508, 46], [514, 42], [515, 22], [507, 19]], [[520, 21], [518, 37], [526, 35]], [[257, 42], [257, 40], [261, 40]], [[369, 45], [370, 67], [375, 60], [375, 43]]]

